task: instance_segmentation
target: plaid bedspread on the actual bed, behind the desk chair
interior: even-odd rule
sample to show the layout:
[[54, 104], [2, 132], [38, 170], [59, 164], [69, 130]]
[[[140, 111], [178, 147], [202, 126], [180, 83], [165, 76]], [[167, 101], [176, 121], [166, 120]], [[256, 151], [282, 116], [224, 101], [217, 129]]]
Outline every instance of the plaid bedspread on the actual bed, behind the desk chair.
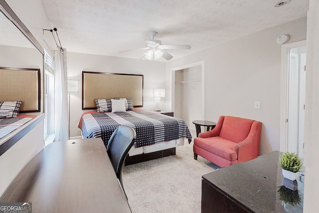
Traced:
[[191, 139], [184, 120], [146, 110], [84, 114], [81, 123], [84, 138], [102, 138], [105, 145], [120, 125], [135, 129], [137, 136], [135, 147], [179, 138]]

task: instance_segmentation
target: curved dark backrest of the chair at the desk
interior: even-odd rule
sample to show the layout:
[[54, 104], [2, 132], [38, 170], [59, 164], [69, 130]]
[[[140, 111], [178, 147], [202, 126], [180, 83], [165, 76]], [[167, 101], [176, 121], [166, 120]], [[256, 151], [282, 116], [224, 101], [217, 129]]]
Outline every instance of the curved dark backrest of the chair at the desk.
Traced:
[[125, 158], [135, 141], [136, 132], [133, 128], [128, 126], [119, 126], [113, 132], [106, 148], [116, 176], [120, 180], [122, 187], [122, 176]]

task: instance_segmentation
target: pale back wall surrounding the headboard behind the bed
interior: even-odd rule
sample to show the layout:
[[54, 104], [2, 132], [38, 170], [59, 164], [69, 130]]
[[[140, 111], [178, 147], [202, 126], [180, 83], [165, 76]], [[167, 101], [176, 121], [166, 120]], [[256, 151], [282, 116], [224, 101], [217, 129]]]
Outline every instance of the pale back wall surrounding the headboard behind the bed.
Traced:
[[[144, 75], [144, 109], [154, 109], [153, 88], [165, 88], [165, 62], [67, 52], [68, 79], [79, 80], [80, 92], [70, 93], [70, 136], [77, 128], [82, 110], [82, 71]], [[165, 98], [161, 98], [164, 106]], [[86, 110], [88, 111], [88, 110]]]

